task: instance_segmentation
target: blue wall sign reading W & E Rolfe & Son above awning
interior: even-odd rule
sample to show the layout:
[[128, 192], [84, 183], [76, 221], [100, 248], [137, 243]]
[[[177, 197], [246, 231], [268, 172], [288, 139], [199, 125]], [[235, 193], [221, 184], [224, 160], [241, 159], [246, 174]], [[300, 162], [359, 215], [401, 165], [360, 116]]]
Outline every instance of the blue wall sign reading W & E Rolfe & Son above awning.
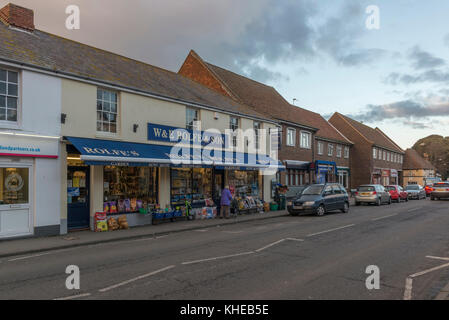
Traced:
[[188, 141], [190, 144], [226, 148], [226, 135], [208, 131], [194, 131], [184, 128], [148, 123], [148, 140], [178, 143]]

